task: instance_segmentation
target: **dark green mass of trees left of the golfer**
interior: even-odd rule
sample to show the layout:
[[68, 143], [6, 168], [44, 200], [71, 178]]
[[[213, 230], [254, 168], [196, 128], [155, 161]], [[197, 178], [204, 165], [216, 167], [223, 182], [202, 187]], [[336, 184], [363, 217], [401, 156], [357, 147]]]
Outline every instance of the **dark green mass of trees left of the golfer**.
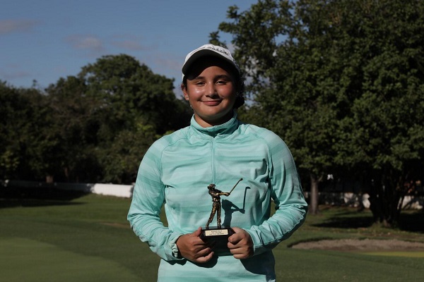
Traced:
[[2, 178], [134, 182], [148, 147], [189, 123], [172, 82], [124, 54], [103, 56], [45, 92], [2, 82]]

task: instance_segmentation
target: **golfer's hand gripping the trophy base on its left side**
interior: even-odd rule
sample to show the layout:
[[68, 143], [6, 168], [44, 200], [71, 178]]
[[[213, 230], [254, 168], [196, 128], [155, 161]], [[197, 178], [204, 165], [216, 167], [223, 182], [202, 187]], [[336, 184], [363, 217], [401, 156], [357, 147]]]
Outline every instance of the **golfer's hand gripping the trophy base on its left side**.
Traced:
[[201, 227], [197, 228], [193, 233], [179, 236], [176, 244], [182, 257], [192, 262], [204, 263], [212, 258], [213, 251], [208, 243], [201, 240], [200, 234]]

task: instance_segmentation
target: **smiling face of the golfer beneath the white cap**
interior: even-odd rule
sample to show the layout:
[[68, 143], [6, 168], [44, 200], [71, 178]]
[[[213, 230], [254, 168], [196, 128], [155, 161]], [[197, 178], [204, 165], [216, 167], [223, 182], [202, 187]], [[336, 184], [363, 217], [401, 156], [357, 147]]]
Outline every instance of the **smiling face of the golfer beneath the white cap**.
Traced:
[[187, 74], [187, 88], [182, 85], [184, 98], [192, 106], [196, 122], [204, 128], [232, 118], [235, 80], [227, 69], [219, 60], [201, 60]]

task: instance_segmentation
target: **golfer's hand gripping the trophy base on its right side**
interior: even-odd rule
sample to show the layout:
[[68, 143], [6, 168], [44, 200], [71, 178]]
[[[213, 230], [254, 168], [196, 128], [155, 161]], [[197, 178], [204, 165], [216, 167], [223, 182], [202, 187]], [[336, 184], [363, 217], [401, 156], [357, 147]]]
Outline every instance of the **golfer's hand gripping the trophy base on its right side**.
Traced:
[[228, 237], [228, 248], [236, 259], [247, 259], [253, 255], [253, 240], [247, 231], [233, 227], [234, 234]]

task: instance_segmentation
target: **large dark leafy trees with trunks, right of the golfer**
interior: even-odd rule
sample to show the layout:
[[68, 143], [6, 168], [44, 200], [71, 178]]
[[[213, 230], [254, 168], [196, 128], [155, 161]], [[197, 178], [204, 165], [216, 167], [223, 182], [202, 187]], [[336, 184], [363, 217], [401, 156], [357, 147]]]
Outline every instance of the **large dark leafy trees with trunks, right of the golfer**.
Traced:
[[422, 177], [411, 168], [424, 157], [423, 8], [264, 0], [243, 13], [230, 7], [232, 23], [220, 24], [254, 84], [251, 110], [310, 174], [312, 213], [319, 179], [343, 173], [375, 180], [375, 218], [394, 226], [403, 182]]

